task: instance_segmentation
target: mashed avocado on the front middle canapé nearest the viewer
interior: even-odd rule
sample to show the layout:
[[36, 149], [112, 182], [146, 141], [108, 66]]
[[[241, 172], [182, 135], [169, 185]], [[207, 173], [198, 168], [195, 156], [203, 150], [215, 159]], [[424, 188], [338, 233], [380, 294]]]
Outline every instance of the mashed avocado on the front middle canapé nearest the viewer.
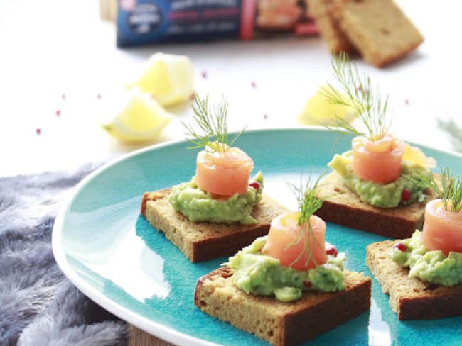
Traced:
[[303, 291], [334, 292], [345, 289], [345, 254], [328, 255], [325, 264], [300, 271], [282, 267], [279, 259], [262, 255], [267, 236], [259, 237], [230, 257], [227, 265], [235, 269], [232, 282], [247, 294], [275, 296], [279, 301], [295, 301]]

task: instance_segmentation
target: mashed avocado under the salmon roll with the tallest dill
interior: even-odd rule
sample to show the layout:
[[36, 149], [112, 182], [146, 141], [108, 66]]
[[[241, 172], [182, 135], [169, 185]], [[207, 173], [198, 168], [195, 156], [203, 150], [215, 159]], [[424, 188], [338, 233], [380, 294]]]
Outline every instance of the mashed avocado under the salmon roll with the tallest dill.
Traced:
[[[409, 177], [426, 172], [425, 167], [402, 162], [401, 177], [394, 182], [381, 184], [361, 179], [354, 174], [351, 169], [351, 161], [352, 152], [349, 150], [342, 155], [335, 155], [333, 160], [328, 163], [328, 166], [343, 177], [345, 185], [358, 194], [361, 201], [380, 208], [393, 208], [399, 205], [423, 202], [426, 199], [424, 189], [409, 179]], [[411, 197], [408, 201], [402, 200], [403, 189], [408, 189], [411, 192]]]

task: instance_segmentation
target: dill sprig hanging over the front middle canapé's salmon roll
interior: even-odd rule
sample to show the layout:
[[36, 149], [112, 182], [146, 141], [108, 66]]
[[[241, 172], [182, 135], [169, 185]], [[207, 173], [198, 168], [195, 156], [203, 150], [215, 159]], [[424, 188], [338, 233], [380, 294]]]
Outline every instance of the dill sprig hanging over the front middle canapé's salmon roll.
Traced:
[[291, 265], [299, 261], [299, 259], [303, 256], [304, 253], [308, 255], [306, 257], [306, 265], [311, 261], [311, 259], [313, 260], [316, 266], [318, 265], [316, 263], [316, 260], [313, 258], [313, 252], [311, 251], [311, 247], [313, 247], [313, 245], [311, 245], [311, 242], [316, 242], [316, 244], [318, 244], [318, 240], [313, 234], [313, 228], [311, 227], [310, 217], [319, 208], [321, 208], [321, 206], [323, 206], [323, 199], [318, 198], [316, 194], [316, 189], [318, 187], [318, 183], [321, 177], [322, 174], [314, 182], [310, 177], [308, 178], [305, 184], [301, 182], [300, 186], [289, 184], [297, 200], [297, 223], [302, 227], [300, 233], [294, 240], [292, 240], [289, 243], [289, 245], [287, 245], [287, 247], [290, 247], [294, 244], [298, 244], [303, 239], [303, 236], [306, 235], [306, 237], [304, 237], [305, 243], [303, 246], [303, 251], [300, 252], [296, 259], [294, 259], [294, 261], [291, 263]]

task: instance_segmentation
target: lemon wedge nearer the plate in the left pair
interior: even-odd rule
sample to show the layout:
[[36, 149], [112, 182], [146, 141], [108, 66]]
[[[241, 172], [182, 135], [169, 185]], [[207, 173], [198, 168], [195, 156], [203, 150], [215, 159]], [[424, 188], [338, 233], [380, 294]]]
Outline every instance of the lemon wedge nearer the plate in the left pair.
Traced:
[[127, 93], [122, 111], [112, 120], [102, 123], [102, 128], [124, 142], [156, 140], [173, 116], [138, 87]]

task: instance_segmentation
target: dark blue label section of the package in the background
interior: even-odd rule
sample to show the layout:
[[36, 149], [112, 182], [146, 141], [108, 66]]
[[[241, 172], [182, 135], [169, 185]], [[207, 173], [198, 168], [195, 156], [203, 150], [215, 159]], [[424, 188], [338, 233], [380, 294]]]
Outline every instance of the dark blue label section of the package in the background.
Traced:
[[119, 0], [117, 45], [239, 38], [241, 0]]

